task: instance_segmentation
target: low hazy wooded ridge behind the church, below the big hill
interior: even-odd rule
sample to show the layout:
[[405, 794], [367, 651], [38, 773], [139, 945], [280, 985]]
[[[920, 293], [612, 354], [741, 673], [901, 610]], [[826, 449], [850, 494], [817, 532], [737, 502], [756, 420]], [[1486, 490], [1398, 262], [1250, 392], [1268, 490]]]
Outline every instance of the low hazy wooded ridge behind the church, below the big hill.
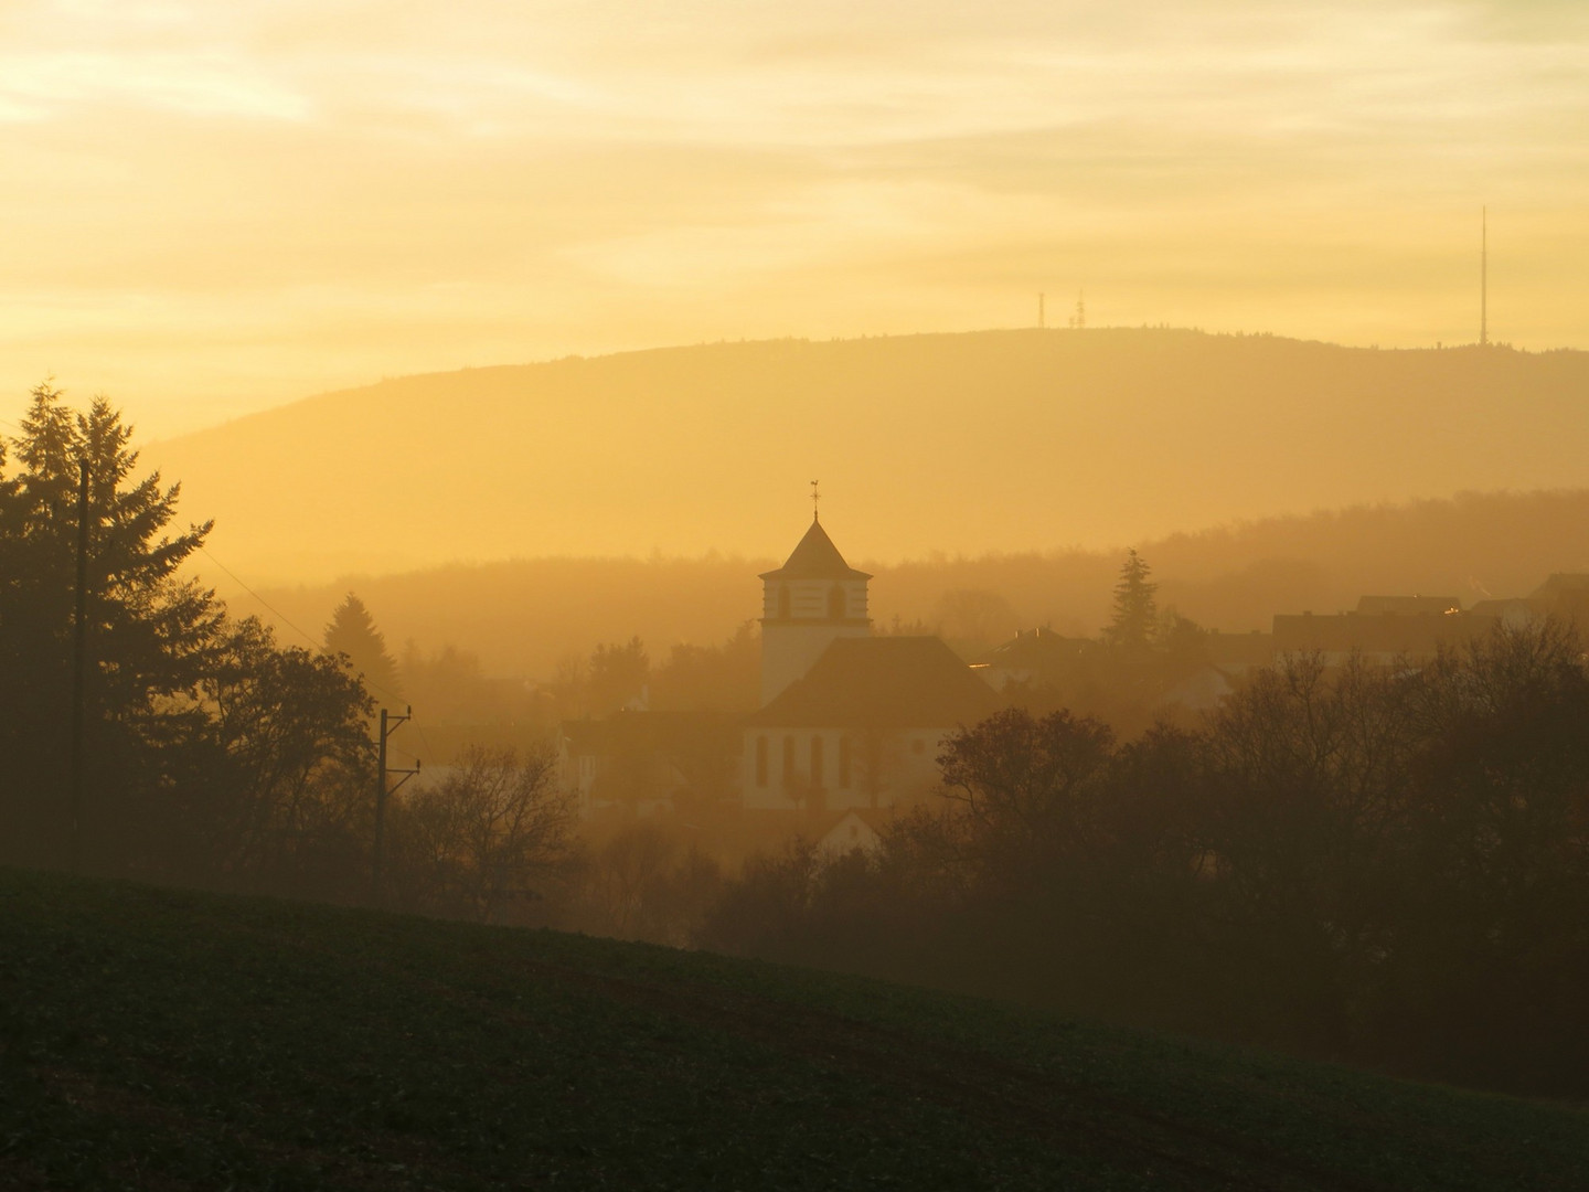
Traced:
[[[1527, 594], [1551, 572], [1589, 569], [1589, 491], [1362, 505], [1177, 534], [1141, 550], [1154, 561], [1163, 606], [1214, 629], [1268, 629], [1276, 612], [1351, 609], [1367, 593], [1473, 602]], [[972, 652], [1034, 625], [1096, 634], [1109, 620], [1122, 555], [856, 566], [877, 575], [879, 626], [898, 618]], [[269, 609], [246, 594], [237, 599], [267, 620], [278, 609], [297, 625], [321, 625], [353, 586], [399, 645], [413, 642], [421, 653], [451, 645], [477, 656], [489, 675], [551, 679], [597, 642], [639, 634], [661, 655], [674, 644], [729, 637], [760, 612], [756, 574], [774, 566], [771, 558], [733, 556], [518, 559], [272, 588], [261, 593]]]

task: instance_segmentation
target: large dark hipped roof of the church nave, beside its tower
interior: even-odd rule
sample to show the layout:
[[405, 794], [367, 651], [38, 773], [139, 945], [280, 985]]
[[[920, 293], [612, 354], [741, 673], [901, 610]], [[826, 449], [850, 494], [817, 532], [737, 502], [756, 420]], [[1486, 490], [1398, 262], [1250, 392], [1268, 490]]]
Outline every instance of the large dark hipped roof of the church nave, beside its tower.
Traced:
[[998, 696], [938, 637], [839, 637], [752, 726], [953, 728], [985, 720]]

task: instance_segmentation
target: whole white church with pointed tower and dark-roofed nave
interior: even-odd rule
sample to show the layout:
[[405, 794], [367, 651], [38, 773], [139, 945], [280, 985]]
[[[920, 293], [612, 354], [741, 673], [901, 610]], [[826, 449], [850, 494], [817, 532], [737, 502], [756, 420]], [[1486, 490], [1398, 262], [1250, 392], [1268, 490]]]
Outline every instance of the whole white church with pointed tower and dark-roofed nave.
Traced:
[[871, 575], [812, 515], [761, 575], [761, 709], [742, 731], [747, 811], [891, 807], [938, 782], [939, 744], [998, 698], [938, 637], [874, 636]]

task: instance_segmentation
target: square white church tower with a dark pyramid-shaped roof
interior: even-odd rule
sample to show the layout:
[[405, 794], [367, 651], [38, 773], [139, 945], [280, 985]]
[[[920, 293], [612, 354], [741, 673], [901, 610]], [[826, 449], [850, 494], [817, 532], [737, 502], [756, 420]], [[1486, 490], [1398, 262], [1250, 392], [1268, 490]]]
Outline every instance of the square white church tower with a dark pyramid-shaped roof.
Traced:
[[855, 571], [812, 515], [777, 571], [761, 575], [761, 706], [804, 677], [836, 637], [869, 637], [864, 571]]

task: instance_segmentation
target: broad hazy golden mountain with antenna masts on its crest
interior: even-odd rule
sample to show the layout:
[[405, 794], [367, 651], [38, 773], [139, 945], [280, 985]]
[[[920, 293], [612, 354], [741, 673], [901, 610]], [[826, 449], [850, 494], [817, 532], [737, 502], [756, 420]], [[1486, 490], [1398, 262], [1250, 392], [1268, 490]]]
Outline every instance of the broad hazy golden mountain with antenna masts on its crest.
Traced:
[[812, 477], [852, 558], [1101, 548], [1255, 515], [1578, 488], [1584, 442], [1586, 353], [1101, 329], [408, 377], [145, 458], [183, 482], [186, 513], [218, 518], [213, 548], [242, 574], [316, 580], [450, 559], [780, 556]]

